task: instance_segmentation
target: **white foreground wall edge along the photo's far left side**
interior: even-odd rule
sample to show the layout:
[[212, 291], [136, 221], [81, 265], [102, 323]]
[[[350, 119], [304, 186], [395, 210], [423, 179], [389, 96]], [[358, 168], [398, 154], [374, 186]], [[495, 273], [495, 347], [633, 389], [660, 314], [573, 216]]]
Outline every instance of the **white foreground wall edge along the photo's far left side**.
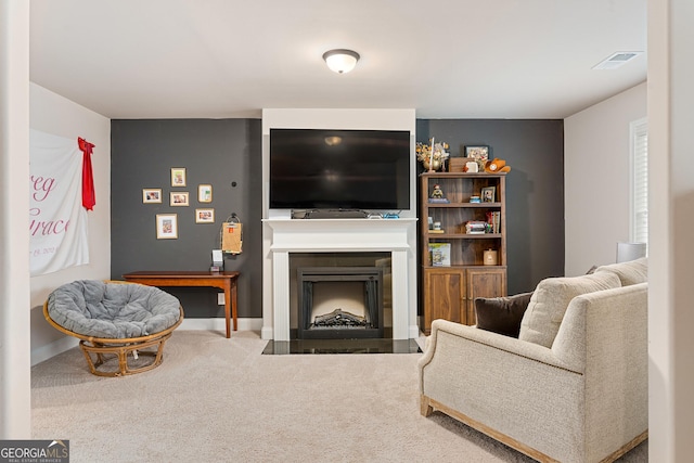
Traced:
[[31, 437], [29, 5], [0, 2], [0, 439]]

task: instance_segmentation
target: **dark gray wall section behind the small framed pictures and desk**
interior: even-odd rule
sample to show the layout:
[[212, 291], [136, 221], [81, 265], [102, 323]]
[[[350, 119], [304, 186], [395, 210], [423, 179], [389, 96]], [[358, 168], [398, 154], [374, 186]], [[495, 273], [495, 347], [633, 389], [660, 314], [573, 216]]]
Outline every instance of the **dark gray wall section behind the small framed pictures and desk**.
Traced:
[[[112, 120], [111, 278], [138, 270], [209, 270], [222, 221], [243, 223], [243, 253], [224, 270], [241, 272], [239, 317], [262, 317], [261, 124], [259, 119]], [[171, 187], [171, 168], [184, 167], [185, 187]], [[197, 185], [213, 185], [198, 203]], [[235, 187], [234, 187], [235, 184]], [[142, 189], [162, 189], [162, 204], [143, 204]], [[190, 205], [172, 207], [172, 191]], [[214, 208], [215, 222], [195, 223], [196, 208]], [[178, 215], [178, 239], [156, 239], [156, 215]], [[223, 317], [215, 288], [167, 288], [187, 318]]]

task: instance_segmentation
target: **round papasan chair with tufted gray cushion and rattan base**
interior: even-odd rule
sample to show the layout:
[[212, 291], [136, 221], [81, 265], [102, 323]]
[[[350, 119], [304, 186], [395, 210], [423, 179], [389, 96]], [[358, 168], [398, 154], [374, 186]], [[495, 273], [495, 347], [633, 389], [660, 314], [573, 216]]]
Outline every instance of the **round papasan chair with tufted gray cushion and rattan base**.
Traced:
[[[162, 363], [164, 344], [183, 321], [183, 308], [154, 286], [79, 280], [53, 291], [43, 316], [56, 330], [80, 339], [92, 374], [125, 376]], [[117, 369], [107, 368], [113, 356]]]

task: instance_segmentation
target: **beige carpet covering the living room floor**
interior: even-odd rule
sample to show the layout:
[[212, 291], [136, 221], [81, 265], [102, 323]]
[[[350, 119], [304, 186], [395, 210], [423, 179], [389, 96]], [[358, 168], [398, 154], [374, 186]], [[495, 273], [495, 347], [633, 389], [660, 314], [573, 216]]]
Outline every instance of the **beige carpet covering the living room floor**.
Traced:
[[[79, 462], [529, 462], [435, 413], [421, 353], [261, 355], [257, 333], [176, 331], [164, 363], [89, 373], [70, 349], [31, 370], [33, 437]], [[646, 462], [647, 442], [622, 461]]]

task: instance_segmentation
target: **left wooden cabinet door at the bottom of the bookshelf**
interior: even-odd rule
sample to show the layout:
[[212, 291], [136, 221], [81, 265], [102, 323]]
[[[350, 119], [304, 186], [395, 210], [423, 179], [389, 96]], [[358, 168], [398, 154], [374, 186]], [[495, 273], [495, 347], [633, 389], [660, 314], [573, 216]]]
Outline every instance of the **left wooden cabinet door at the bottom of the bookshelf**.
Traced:
[[436, 319], [465, 323], [465, 284], [462, 269], [424, 270], [424, 332], [429, 334]]

